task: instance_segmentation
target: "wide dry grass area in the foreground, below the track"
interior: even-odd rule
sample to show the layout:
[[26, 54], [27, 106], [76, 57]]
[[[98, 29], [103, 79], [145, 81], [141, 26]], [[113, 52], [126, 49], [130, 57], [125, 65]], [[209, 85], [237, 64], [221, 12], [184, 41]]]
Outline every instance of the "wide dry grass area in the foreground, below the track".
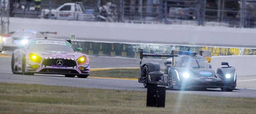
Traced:
[[165, 108], [146, 107], [146, 91], [0, 83], [0, 113], [255, 113], [256, 98], [166, 93]]

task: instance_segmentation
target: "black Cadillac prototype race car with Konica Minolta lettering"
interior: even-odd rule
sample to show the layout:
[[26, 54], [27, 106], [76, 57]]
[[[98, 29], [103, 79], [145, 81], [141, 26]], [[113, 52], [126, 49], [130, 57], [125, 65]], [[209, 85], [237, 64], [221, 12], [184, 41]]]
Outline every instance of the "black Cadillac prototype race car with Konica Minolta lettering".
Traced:
[[[202, 52], [202, 51], [201, 51]], [[139, 82], [147, 88], [149, 85], [164, 85], [170, 89], [221, 88], [222, 91], [236, 90], [236, 69], [222, 62], [217, 72], [212, 69], [206, 57], [196, 52], [172, 50], [168, 53], [143, 53], [140, 50]], [[165, 70], [161, 71], [157, 62], [141, 64], [144, 56], [171, 57], [164, 62]]]

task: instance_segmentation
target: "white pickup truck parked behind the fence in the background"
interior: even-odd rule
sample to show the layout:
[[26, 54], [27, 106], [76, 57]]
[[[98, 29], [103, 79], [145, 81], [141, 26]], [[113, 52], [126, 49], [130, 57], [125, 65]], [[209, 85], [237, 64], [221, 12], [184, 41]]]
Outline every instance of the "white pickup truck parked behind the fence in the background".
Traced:
[[[49, 18], [49, 13], [49, 9], [43, 9], [41, 17]], [[51, 14], [54, 19], [93, 21], [95, 18], [93, 10], [85, 10], [80, 3], [65, 3], [57, 9], [52, 9]]]

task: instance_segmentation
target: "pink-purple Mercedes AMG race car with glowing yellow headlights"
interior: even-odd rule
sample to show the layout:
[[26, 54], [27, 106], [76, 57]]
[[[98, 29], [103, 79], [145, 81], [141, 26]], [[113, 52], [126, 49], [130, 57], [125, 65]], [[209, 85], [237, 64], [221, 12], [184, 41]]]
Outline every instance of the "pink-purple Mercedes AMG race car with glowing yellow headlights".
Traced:
[[[16, 39], [14, 39], [16, 40]], [[76, 50], [71, 40], [34, 38], [24, 48], [12, 54], [12, 72], [24, 75], [60, 74], [65, 77], [86, 78], [90, 75], [89, 57], [81, 48]]]

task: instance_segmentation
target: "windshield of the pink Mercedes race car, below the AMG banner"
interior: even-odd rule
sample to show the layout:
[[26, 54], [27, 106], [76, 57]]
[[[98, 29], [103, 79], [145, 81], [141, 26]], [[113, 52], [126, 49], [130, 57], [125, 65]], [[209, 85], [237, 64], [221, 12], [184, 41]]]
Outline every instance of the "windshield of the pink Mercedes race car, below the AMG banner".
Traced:
[[74, 48], [70, 45], [61, 45], [61, 44], [31, 44], [28, 47], [28, 50], [32, 51], [64, 51], [67, 53], [75, 52]]

